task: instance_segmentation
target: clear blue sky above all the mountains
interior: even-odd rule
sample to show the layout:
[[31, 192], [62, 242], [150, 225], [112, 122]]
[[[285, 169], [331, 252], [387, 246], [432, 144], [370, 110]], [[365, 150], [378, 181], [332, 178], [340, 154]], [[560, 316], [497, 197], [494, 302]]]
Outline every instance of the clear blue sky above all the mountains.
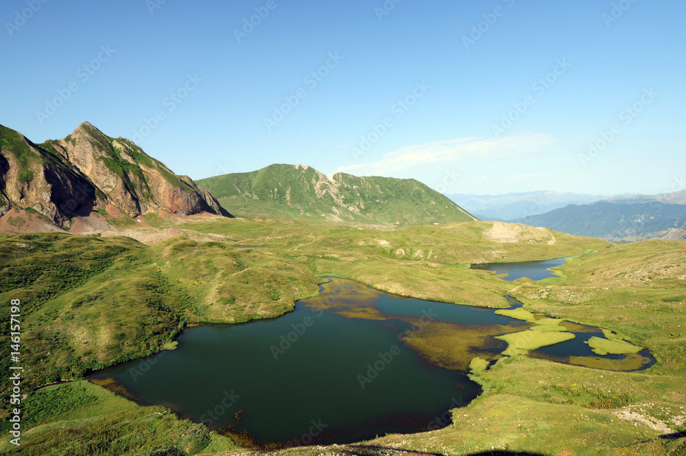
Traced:
[[301, 163], [449, 194], [684, 190], [685, 17], [667, 0], [3, 0], [0, 124], [40, 142], [87, 120], [193, 179]]

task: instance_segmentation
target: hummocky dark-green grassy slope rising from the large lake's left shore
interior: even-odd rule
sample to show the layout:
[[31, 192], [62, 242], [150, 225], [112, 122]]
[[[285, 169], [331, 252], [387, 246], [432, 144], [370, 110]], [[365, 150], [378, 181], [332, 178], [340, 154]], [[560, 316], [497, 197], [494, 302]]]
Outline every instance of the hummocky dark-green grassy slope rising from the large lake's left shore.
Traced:
[[[5, 235], [0, 252], [0, 299], [23, 303], [34, 387], [158, 352], [187, 322], [282, 315], [320, 282], [268, 253], [183, 238], [146, 247], [130, 238]], [[2, 315], [4, 344], [8, 308]], [[8, 362], [0, 358], [3, 380]]]

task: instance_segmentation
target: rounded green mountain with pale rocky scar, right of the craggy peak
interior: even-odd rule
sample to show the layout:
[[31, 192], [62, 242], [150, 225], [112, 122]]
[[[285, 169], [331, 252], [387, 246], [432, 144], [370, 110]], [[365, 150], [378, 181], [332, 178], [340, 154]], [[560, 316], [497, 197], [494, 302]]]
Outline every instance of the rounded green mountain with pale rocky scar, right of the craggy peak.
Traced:
[[271, 165], [201, 179], [240, 217], [330, 220], [358, 225], [428, 225], [475, 220], [449, 198], [414, 179], [325, 176], [300, 165]]

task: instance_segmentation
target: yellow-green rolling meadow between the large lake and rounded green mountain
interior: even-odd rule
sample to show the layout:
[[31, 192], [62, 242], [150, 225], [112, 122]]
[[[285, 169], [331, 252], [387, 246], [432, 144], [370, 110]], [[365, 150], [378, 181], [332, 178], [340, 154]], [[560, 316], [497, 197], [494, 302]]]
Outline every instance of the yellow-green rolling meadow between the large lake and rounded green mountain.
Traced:
[[[490, 307], [508, 306], [502, 299], [507, 282], [467, 264], [541, 260], [610, 245], [545, 229], [529, 232], [527, 227], [522, 242], [495, 242], [488, 239], [493, 228], [489, 222], [392, 231], [246, 220], [179, 227], [221, 233], [238, 244], [267, 244], [265, 253], [296, 261], [317, 275], [340, 275], [401, 295]], [[548, 244], [552, 236], [556, 243]]]

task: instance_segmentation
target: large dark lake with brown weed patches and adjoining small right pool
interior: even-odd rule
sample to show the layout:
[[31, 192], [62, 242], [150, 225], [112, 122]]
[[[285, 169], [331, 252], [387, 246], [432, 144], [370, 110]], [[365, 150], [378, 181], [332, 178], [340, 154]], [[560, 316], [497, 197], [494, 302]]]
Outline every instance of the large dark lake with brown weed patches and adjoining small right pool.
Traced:
[[[496, 361], [508, 348], [496, 337], [532, 327], [495, 309], [399, 297], [352, 280], [331, 277], [320, 289], [282, 317], [187, 328], [176, 350], [88, 379], [246, 446], [357, 442], [451, 424], [447, 411], [481, 392], [467, 376], [473, 358]], [[570, 324], [575, 334], [598, 332]], [[606, 358], [613, 363], [602, 366], [628, 369], [623, 355], [598, 356], [580, 344], [531, 354], [559, 362]], [[652, 364], [645, 354], [628, 367]]]

